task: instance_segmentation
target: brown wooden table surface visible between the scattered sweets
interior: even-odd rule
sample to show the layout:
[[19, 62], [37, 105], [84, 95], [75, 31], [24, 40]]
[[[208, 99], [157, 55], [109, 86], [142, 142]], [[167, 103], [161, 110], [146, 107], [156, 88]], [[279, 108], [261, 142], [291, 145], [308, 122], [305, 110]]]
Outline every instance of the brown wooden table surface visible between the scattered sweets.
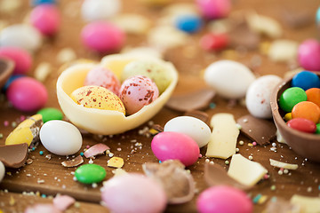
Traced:
[[[19, 2], [19, 1], [18, 1]], [[0, 12], [0, 20], [5, 20], [8, 24], [20, 23], [25, 20], [28, 12], [31, 11], [31, 7], [27, 1], [20, 1], [21, 5], [10, 13]], [[49, 62], [52, 65], [52, 75], [44, 82], [49, 92], [49, 101], [46, 106], [60, 107], [56, 98], [55, 83], [59, 76], [60, 63], [56, 60], [57, 53], [62, 48], [72, 48], [76, 51], [78, 59], [100, 59], [102, 56], [92, 51], [87, 51], [80, 41], [79, 34], [81, 28], [84, 26], [84, 21], [80, 18], [80, 5], [82, 1], [59, 1], [59, 8], [61, 12], [61, 28], [57, 36], [44, 40], [44, 44], [39, 51], [34, 55], [34, 66], [32, 71], [28, 75], [33, 75], [34, 69], [41, 62]], [[172, 1], [172, 3], [187, 2], [193, 3], [194, 1]], [[0, 1], [1, 3], [1, 1]], [[140, 4], [136, 0], [124, 0], [123, 12], [137, 12], [147, 16], [150, 20], [156, 22], [161, 16], [161, 8], [150, 9], [144, 4]], [[314, 19], [316, 9], [318, 7], [318, 1], [308, 0], [235, 0], [233, 1], [233, 7], [231, 14], [236, 12], [258, 12], [262, 15], [267, 15], [282, 24], [284, 29], [284, 36], [282, 38], [292, 39], [300, 43], [306, 38], [316, 38], [319, 35], [319, 31], [316, 29], [316, 24], [312, 24], [300, 28], [292, 29], [284, 25], [282, 21], [282, 13], [285, 10], [292, 12], [308, 12], [308, 14]], [[188, 91], [197, 91], [204, 88], [204, 81], [200, 74], [202, 70], [211, 64], [213, 61], [219, 59], [228, 59], [226, 51], [220, 52], [207, 52], [199, 48], [199, 38], [205, 33], [205, 28], [192, 36], [190, 43], [186, 43], [183, 47], [175, 48], [164, 53], [164, 59], [172, 61], [177, 67], [180, 73], [179, 83], [176, 89], [176, 93], [185, 93]], [[272, 39], [263, 37], [262, 41], [272, 41]], [[146, 45], [146, 36], [127, 36], [125, 45], [127, 46], [140, 46]], [[188, 50], [192, 50], [193, 54], [186, 54]], [[232, 50], [232, 49], [228, 49]], [[236, 51], [234, 51], [236, 52]], [[247, 51], [244, 54], [233, 54], [233, 59], [242, 62], [247, 66], [252, 67], [253, 59], [261, 59], [261, 64], [254, 68], [256, 75], [275, 74], [281, 77], [284, 73], [290, 70], [287, 63], [275, 63], [268, 57], [261, 54], [259, 50]], [[235, 118], [239, 118], [244, 114], [248, 114], [245, 106], [237, 103], [235, 106], [229, 106], [229, 102], [226, 99], [221, 99], [216, 96], [212, 99], [212, 102], [216, 104], [215, 108], [207, 108], [204, 111], [209, 114], [226, 112], [234, 114]], [[15, 122], [20, 118], [20, 115], [32, 115], [33, 113], [22, 113], [10, 106], [4, 99], [0, 102], [0, 133], [4, 134], [4, 138], [0, 139], [0, 145], [4, 145], [5, 138], [13, 130], [12, 126], [4, 126], [4, 121], [10, 123]], [[173, 117], [179, 116], [182, 113], [173, 111], [164, 107], [152, 121], [161, 125], [169, 121]], [[148, 126], [148, 123], [141, 125], [135, 130], [131, 130], [124, 134], [116, 135], [114, 137], [98, 138], [90, 134], [84, 134], [84, 144], [81, 150], [85, 146], [92, 146], [99, 141], [105, 142], [115, 156], [122, 157], [124, 159], [123, 169], [128, 172], [142, 172], [141, 165], [145, 162], [157, 162], [156, 157], [151, 151], [150, 142], [152, 138], [147, 138], [139, 134], [139, 130]], [[136, 153], [132, 154], [132, 139], [136, 139], [142, 144], [142, 148], [138, 149]], [[268, 196], [268, 201], [273, 197], [284, 198], [290, 200], [293, 194], [301, 194], [308, 196], [319, 196], [319, 179], [320, 179], [320, 164], [315, 162], [305, 161], [304, 158], [295, 154], [288, 146], [283, 144], [277, 144], [277, 152], [270, 151], [271, 145], [268, 146], [248, 146], [251, 142], [250, 139], [240, 135], [238, 140], [244, 140], [243, 146], [239, 147], [240, 154], [248, 157], [252, 154], [253, 161], [260, 162], [267, 170], [270, 178], [262, 181], [258, 185], [255, 185], [247, 193], [252, 197], [261, 193]], [[120, 151], [119, 151], [120, 150]], [[201, 154], [205, 154], [206, 147], [201, 148]], [[43, 151], [44, 154], [40, 155], [39, 151]], [[80, 153], [80, 151], [79, 151]], [[20, 169], [13, 170], [7, 169], [7, 173], [4, 180], [0, 184], [0, 209], [4, 212], [23, 212], [26, 207], [34, 203], [40, 202], [52, 202], [51, 199], [42, 198], [36, 195], [30, 195], [30, 192], [45, 195], [55, 196], [57, 193], [68, 194], [76, 199], [80, 203], [80, 208], [75, 206], [68, 209], [68, 212], [108, 212], [108, 209], [100, 206], [100, 187], [92, 188], [91, 185], [83, 185], [73, 180], [72, 171], [76, 168], [64, 168], [61, 166], [61, 162], [65, 161], [64, 156], [58, 156], [52, 154], [52, 158], [48, 160], [45, 156], [50, 154], [44, 146], [40, 145], [34, 152], [28, 154], [28, 158], [33, 158], [33, 162]], [[278, 169], [272, 167], [269, 163], [269, 158], [282, 161], [297, 163], [299, 165], [298, 170], [292, 170], [291, 175], [278, 175]], [[107, 161], [109, 157], [106, 155], [100, 155], [95, 160], [97, 163], [103, 166], [107, 170], [106, 180], [113, 177], [111, 168], [107, 167]], [[202, 192], [208, 187], [204, 182], [204, 161], [205, 157], [200, 158], [193, 166], [188, 167], [192, 176], [196, 181], [197, 193], [195, 198], [188, 203], [181, 205], [169, 205], [166, 209], [167, 212], [196, 212], [196, 198], [198, 193]], [[210, 159], [215, 163], [220, 164], [224, 168], [228, 169], [224, 160]], [[84, 163], [88, 163], [88, 159], [84, 158]], [[39, 180], [43, 183], [39, 183]], [[276, 185], [276, 190], [271, 190], [271, 185]], [[27, 192], [24, 193], [24, 192]], [[265, 209], [266, 201], [264, 204], [255, 204], [254, 211], [261, 212]], [[1, 212], [1, 211], [0, 211]]]

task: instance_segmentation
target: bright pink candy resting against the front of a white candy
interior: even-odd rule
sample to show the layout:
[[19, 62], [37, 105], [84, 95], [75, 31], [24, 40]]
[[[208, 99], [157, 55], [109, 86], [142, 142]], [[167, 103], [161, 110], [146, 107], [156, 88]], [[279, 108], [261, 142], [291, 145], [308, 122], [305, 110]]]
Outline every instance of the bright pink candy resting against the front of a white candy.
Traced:
[[194, 139], [175, 131], [157, 134], [151, 141], [151, 149], [160, 161], [179, 160], [185, 166], [194, 164], [200, 154]]

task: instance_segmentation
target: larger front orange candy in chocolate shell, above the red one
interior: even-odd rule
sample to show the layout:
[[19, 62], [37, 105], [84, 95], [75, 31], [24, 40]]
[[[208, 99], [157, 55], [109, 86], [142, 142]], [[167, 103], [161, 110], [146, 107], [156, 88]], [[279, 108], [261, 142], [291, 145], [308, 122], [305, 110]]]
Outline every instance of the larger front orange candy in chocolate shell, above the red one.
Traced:
[[320, 120], [320, 107], [311, 101], [302, 101], [293, 106], [292, 118], [305, 118], [318, 123]]

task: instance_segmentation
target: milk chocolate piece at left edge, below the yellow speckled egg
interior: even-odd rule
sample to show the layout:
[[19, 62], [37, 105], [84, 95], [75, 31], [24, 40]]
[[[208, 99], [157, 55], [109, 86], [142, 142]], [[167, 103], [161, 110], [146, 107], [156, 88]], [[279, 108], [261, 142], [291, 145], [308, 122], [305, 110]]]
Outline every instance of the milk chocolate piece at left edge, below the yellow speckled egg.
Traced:
[[5, 167], [20, 168], [27, 161], [28, 144], [0, 146], [0, 161]]

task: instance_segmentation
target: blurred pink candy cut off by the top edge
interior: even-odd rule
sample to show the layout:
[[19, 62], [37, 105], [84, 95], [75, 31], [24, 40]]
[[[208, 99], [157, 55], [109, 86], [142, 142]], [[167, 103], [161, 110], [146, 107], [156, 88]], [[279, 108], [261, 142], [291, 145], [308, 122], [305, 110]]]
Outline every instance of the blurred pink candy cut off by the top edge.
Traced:
[[226, 17], [231, 10], [229, 0], [196, 0], [196, 4], [204, 18], [208, 20]]

